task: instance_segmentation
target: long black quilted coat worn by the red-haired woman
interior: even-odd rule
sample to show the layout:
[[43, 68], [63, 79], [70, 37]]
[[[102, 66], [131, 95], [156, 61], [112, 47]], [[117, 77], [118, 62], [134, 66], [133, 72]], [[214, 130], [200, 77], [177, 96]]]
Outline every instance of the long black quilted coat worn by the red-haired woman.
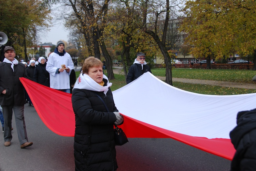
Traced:
[[[110, 112], [95, 93], [102, 97]], [[116, 116], [113, 112], [118, 110], [110, 88], [106, 96], [103, 92], [73, 89], [72, 105], [75, 113], [75, 170], [116, 170], [113, 131]]]

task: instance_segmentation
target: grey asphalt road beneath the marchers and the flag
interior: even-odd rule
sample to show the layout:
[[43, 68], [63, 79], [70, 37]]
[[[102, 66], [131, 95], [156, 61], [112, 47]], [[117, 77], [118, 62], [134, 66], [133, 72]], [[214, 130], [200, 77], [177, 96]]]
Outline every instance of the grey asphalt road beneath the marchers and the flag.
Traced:
[[[0, 133], [0, 171], [74, 170], [73, 137], [53, 133], [28, 104], [25, 121], [28, 139], [34, 144], [20, 149], [13, 118], [11, 146], [3, 145]], [[228, 171], [230, 168], [230, 160], [169, 138], [129, 138], [128, 143], [116, 149], [118, 171]]]

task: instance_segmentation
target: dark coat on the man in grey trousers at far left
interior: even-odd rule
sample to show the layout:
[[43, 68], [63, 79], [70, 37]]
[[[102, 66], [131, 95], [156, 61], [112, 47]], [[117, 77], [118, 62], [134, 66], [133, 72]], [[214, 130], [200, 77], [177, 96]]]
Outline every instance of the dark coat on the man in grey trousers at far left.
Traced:
[[0, 94], [1, 106], [22, 106], [26, 104], [24, 87], [19, 78], [27, 77], [25, 65], [14, 65], [14, 71], [10, 63], [0, 63], [0, 92], [6, 89], [6, 94]]

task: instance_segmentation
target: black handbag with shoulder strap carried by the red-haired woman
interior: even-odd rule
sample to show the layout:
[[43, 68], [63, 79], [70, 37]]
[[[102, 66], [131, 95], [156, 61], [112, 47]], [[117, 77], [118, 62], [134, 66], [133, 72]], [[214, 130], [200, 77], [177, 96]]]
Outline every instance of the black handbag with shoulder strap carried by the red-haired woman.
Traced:
[[[101, 102], [103, 103], [103, 105], [106, 108], [106, 111], [109, 112], [108, 107], [106, 106], [105, 102], [103, 101], [103, 99], [97, 94], [95, 93], [101, 100]], [[115, 128], [114, 128], [114, 140], [115, 140], [115, 144], [116, 145], [124, 145], [125, 143], [129, 142], [123, 129], [122, 128], [118, 128], [116, 124], [114, 124]]]

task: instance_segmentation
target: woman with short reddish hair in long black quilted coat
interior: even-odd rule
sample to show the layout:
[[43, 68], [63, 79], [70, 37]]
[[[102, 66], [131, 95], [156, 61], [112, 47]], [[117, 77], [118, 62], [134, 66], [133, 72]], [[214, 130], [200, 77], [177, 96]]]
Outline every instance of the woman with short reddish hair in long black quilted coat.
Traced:
[[[118, 168], [113, 124], [123, 123], [103, 75], [102, 62], [89, 57], [75, 83], [72, 106], [75, 113], [74, 157], [76, 171], [114, 171]], [[104, 100], [109, 112], [97, 94]]]

